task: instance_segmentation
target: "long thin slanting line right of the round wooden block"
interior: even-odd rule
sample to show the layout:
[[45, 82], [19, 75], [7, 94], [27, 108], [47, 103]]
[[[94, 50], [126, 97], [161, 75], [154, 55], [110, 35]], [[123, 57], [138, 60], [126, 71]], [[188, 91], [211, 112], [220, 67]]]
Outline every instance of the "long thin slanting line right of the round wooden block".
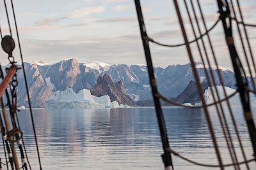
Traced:
[[16, 29], [16, 33], [17, 33], [17, 40], [18, 40], [18, 43], [19, 43], [19, 52], [20, 52], [20, 59], [21, 59], [21, 62], [22, 62], [22, 71], [23, 71], [23, 74], [24, 74], [24, 81], [25, 81], [25, 86], [26, 86], [26, 91], [27, 91], [27, 96], [28, 96], [29, 111], [30, 111], [30, 115], [31, 115], [31, 122], [32, 122], [32, 126], [33, 126], [34, 137], [35, 137], [38, 162], [39, 162], [40, 170], [42, 170], [42, 164], [41, 164], [41, 160], [40, 160], [38, 141], [37, 141], [37, 138], [36, 138], [35, 122], [34, 122], [32, 108], [31, 108], [31, 101], [30, 101], [30, 97], [29, 97], [28, 80], [26, 78], [24, 60], [23, 60], [23, 57], [22, 57], [22, 51], [21, 51], [21, 46], [20, 46], [19, 31], [18, 31], [18, 27], [17, 27], [17, 21], [16, 21], [16, 17], [15, 17], [15, 11], [14, 11], [12, 0], [11, 0], [11, 3], [12, 3], [13, 18], [14, 18], [14, 22], [15, 22], [15, 29]]

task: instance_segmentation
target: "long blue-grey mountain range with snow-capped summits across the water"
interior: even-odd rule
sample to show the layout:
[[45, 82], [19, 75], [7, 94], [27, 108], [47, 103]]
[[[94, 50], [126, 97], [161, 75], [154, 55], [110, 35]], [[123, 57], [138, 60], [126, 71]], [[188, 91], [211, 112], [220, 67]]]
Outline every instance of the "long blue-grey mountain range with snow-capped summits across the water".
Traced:
[[[202, 63], [197, 62], [196, 68], [200, 76], [200, 80], [203, 83], [205, 81], [204, 66], [202, 66]], [[108, 74], [114, 83], [120, 81], [124, 88], [114, 88], [120, 91], [113, 92], [111, 94], [112, 97], [116, 96], [118, 92], [123, 90], [125, 91], [122, 92], [124, 95], [127, 93], [129, 96], [133, 96], [133, 98], [136, 96], [137, 100], [152, 100], [147, 66], [145, 65], [109, 65], [103, 62], [79, 63], [76, 59], [70, 58], [55, 64], [45, 64], [44, 62], [33, 64], [25, 63], [25, 69], [28, 78], [29, 94], [34, 107], [44, 107], [51, 94], [56, 91], [65, 91], [70, 88], [77, 94], [83, 89], [97, 89], [95, 88], [97, 86], [97, 80], [100, 77], [103, 77], [104, 74]], [[221, 76], [223, 77], [225, 87], [236, 89], [234, 73], [223, 67], [219, 67], [219, 69]], [[186, 87], [188, 87], [189, 83], [194, 81], [191, 64], [178, 64], [168, 66], [166, 68], [154, 67], [154, 71], [157, 78], [157, 87], [159, 92], [169, 98], [178, 97], [182, 92], [184, 92]], [[216, 76], [218, 73], [216, 67], [212, 71]], [[207, 73], [209, 73], [209, 66], [207, 67]], [[28, 99], [24, 88], [23, 74], [20, 70], [18, 71], [18, 79], [19, 104], [28, 106], [26, 104]], [[217, 76], [214, 81], [216, 81], [217, 85], [220, 85], [220, 80]], [[101, 85], [101, 89], [97, 89], [97, 91], [111, 92], [111, 88], [114, 86], [109, 88], [108, 83], [105, 83], [104, 86]], [[95, 94], [97, 93], [95, 92]], [[104, 96], [105, 94], [97, 94], [96, 96], [99, 97], [99, 95]], [[110, 98], [111, 95], [109, 95]], [[117, 98], [118, 97], [116, 97], [116, 100]], [[127, 98], [127, 96], [123, 96], [118, 103], [120, 104], [120, 102], [124, 102], [125, 99], [130, 101], [131, 97]]]

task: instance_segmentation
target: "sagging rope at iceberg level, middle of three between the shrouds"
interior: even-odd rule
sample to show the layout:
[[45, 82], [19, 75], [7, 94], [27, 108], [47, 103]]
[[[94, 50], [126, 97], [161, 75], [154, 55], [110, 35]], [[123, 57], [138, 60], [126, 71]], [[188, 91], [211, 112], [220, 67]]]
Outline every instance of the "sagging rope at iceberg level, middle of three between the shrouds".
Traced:
[[[223, 101], [227, 101], [231, 97], [235, 96], [237, 94], [237, 92], [238, 91], [236, 90], [236, 92], [233, 92], [232, 94], [230, 94], [229, 96], [225, 97], [224, 99], [221, 99], [220, 101], [216, 101], [214, 103], [206, 104], [206, 106], [212, 106], [212, 105], [215, 105], [215, 104], [222, 103]], [[162, 99], [163, 101], [165, 101], [167, 103], [170, 103], [170, 104], [173, 104], [175, 106], [182, 106], [184, 108], [203, 108], [203, 106], [187, 106], [187, 105], [184, 105], [184, 104], [181, 104], [181, 103], [177, 103], [175, 101], [172, 101], [172, 100], [168, 99], [167, 97], [163, 96], [160, 93], [156, 94], [156, 96], [159, 97], [160, 99]]]

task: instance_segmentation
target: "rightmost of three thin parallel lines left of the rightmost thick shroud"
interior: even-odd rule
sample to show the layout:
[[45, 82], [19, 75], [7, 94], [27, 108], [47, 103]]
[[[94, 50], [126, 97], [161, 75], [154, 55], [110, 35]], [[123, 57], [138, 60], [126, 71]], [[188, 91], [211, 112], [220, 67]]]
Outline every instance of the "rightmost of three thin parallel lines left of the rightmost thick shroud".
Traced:
[[[197, 0], [197, 4], [198, 4], [198, 9], [200, 11], [200, 15], [201, 15], [201, 18], [202, 18], [202, 21], [203, 21], [203, 25], [204, 25], [204, 29], [207, 30], [207, 25], [205, 24], [205, 18], [204, 18], [204, 14], [203, 14], [203, 11], [202, 11], [202, 7], [200, 5], [200, 1]], [[224, 81], [223, 81], [223, 78], [221, 76], [221, 72], [220, 72], [220, 69], [219, 69], [219, 64], [218, 64], [218, 60], [216, 59], [216, 55], [215, 55], [215, 52], [214, 52], [214, 48], [212, 46], [212, 41], [211, 41], [211, 38], [209, 36], [209, 34], [207, 34], [207, 39], [209, 41], [209, 45], [210, 45], [210, 48], [211, 48], [211, 52], [212, 52], [212, 56], [213, 56], [213, 59], [214, 59], [214, 64], [216, 65], [217, 67], [217, 71], [218, 71], [218, 74], [219, 74], [219, 78], [220, 78], [220, 81], [221, 81], [221, 85], [222, 85], [222, 88], [223, 88], [223, 92], [224, 92], [224, 95], [225, 97], [227, 97], [227, 92], [226, 92], [226, 89], [224, 87]], [[209, 65], [211, 66], [211, 64], [209, 63]], [[232, 119], [232, 124], [234, 125], [234, 129], [236, 131], [236, 135], [237, 135], [237, 139], [239, 141], [239, 146], [241, 148], [241, 152], [243, 154], [243, 158], [246, 162], [246, 155], [245, 155], [245, 152], [244, 152], [244, 148], [243, 148], [243, 143], [241, 142], [241, 138], [240, 138], [240, 135], [239, 135], [239, 131], [237, 129], [237, 124], [236, 124], [236, 120], [234, 118], [234, 113], [232, 111], [232, 108], [231, 108], [231, 105], [230, 105], [230, 102], [227, 100], [227, 106], [228, 106], [228, 111], [230, 113], [230, 117]], [[250, 169], [248, 164], [246, 164], [246, 167], [247, 169]]]

